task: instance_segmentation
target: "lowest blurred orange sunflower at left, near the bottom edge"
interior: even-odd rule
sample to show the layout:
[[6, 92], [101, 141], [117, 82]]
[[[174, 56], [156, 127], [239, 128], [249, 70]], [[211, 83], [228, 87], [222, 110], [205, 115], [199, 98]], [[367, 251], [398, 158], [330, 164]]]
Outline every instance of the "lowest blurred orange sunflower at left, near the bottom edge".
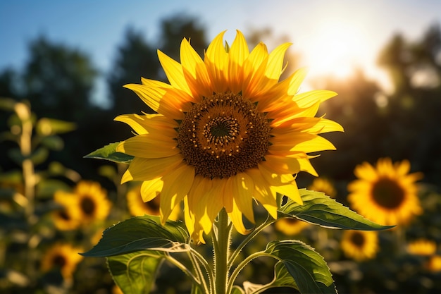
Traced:
[[67, 243], [56, 243], [44, 253], [41, 269], [44, 272], [59, 269], [61, 276], [66, 281], [71, 281], [77, 264], [82, 260], [78, 252], [82, 252], [82, 249]]

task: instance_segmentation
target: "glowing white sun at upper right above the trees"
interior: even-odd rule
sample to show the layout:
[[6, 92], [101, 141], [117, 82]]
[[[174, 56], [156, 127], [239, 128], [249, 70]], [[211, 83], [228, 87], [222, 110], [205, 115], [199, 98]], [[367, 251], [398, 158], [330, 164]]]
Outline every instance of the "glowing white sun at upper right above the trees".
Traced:
[[326, 21], [309, 37], [304, 57], [311, 75], [345, 78], [366, 61], [364, 34], [359, 28], [339, 20]]

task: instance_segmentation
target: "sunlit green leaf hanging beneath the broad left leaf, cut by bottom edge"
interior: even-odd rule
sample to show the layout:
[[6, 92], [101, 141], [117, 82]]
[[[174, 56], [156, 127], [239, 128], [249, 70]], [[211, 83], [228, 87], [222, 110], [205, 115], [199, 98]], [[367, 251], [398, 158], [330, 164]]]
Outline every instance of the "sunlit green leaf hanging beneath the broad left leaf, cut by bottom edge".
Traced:
[[156, 271], [163, 262], [163, 254], [155, 251], [137, 251], [107, 257], [107, 267], [113, 281], [123, 293], [150, 293]]

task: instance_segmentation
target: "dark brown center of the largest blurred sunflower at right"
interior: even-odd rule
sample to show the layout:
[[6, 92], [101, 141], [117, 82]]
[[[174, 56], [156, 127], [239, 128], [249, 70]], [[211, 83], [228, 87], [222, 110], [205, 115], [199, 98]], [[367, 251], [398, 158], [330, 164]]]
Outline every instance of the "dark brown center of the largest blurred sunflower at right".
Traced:
[[381, 178], [373, 185], [373, 200], [387, 209], [399, 207], [404, 200], [404, 190], [395, 180]]

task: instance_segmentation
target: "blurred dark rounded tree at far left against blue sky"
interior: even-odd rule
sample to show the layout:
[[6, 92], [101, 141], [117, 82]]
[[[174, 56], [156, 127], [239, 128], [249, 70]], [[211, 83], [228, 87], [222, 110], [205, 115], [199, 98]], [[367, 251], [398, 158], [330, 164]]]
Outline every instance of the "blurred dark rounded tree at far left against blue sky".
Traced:
[[89, 108], [98, 71], [85, 53], [45, 37], [30, 42], [25, 97], [39, 116], [80, 121]]

